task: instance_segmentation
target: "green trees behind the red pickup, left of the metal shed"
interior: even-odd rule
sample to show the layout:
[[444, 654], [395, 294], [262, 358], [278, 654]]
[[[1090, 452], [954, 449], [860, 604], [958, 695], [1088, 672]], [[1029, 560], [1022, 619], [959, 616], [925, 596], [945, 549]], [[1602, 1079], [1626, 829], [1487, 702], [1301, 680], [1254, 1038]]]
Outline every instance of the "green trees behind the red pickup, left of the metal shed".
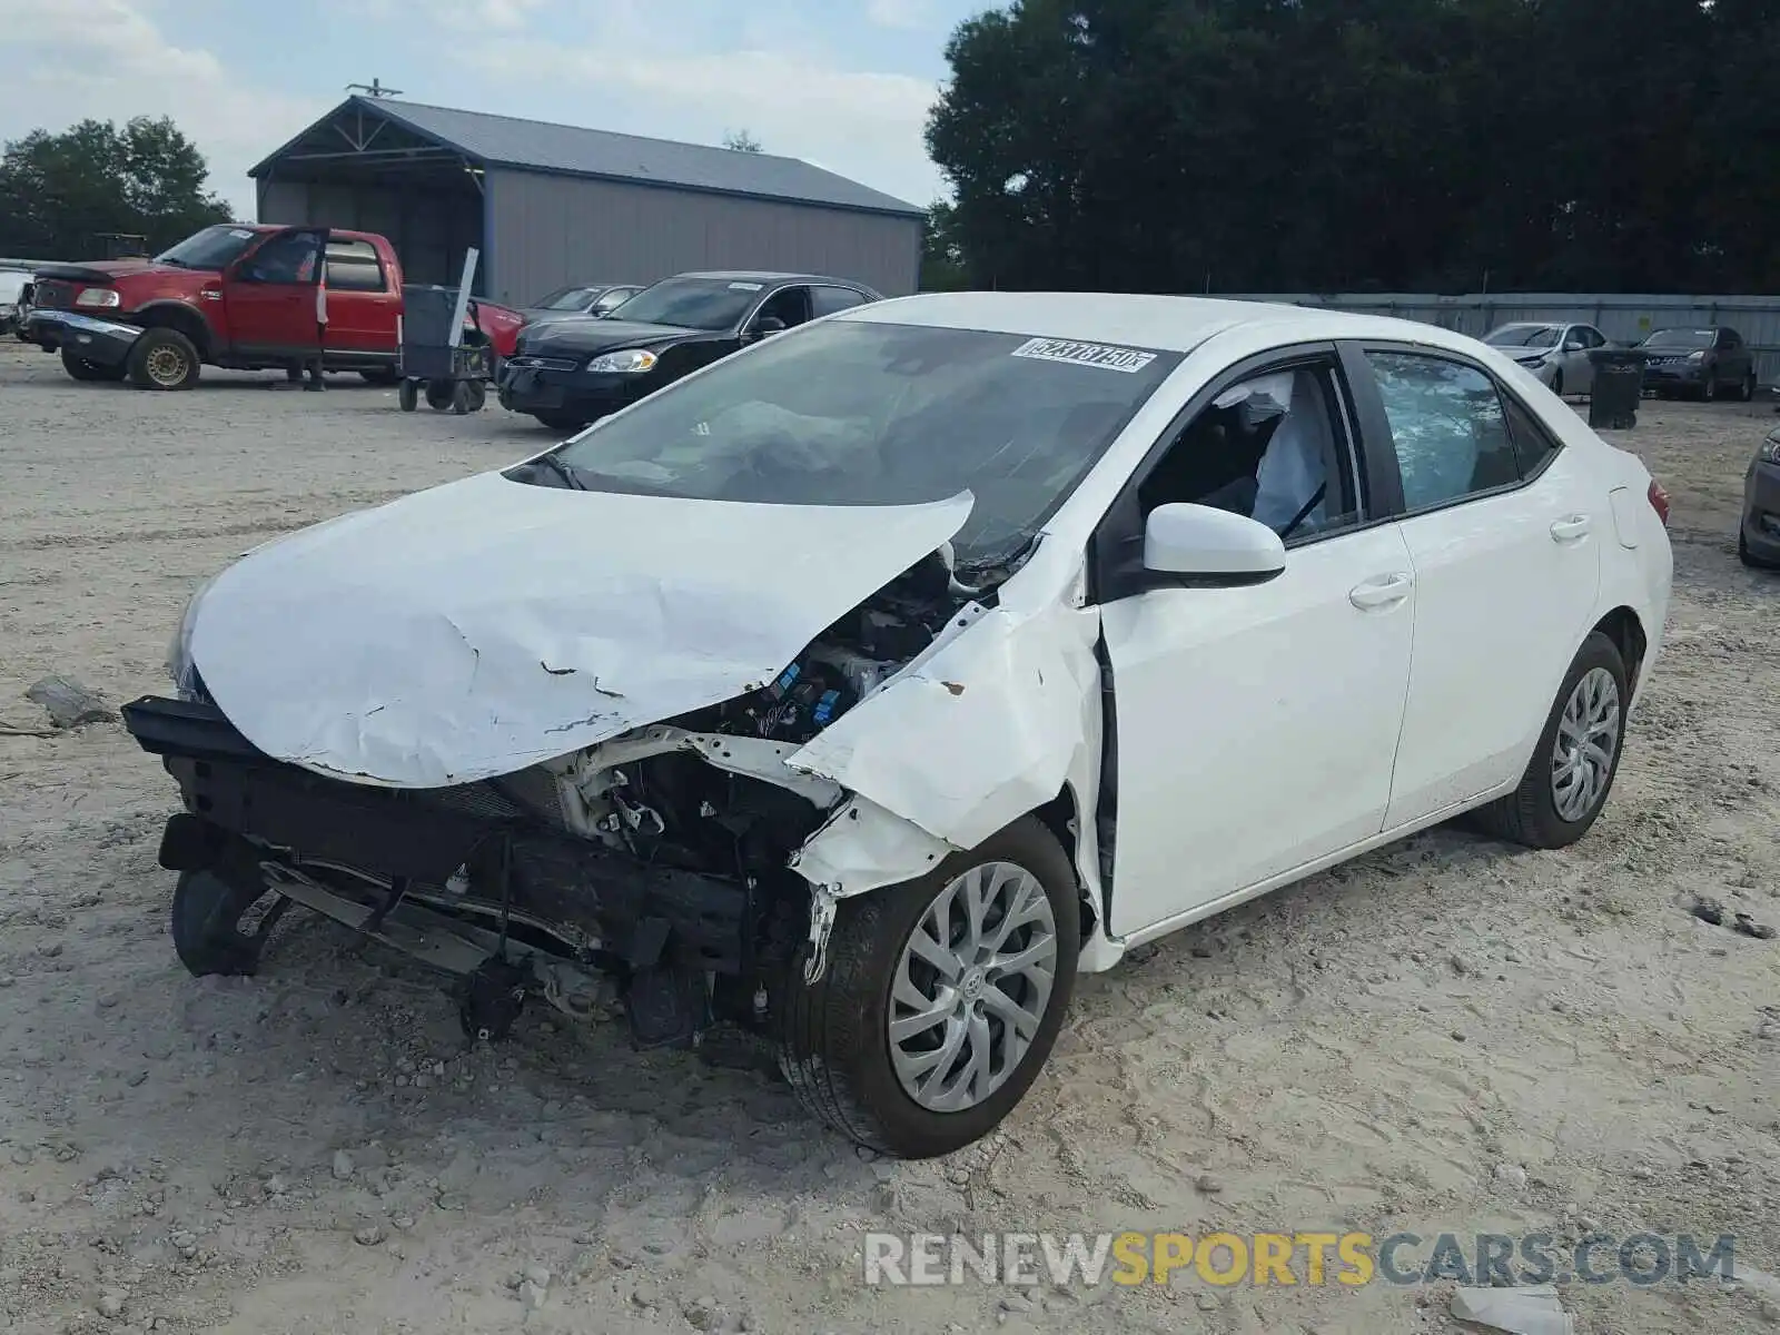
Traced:
[[167, 117], [34, 130], [0, 157], [0, 255], [78, 260], [109, 231], [166, 249], [230, 221], [206, 178], [198, 146]]

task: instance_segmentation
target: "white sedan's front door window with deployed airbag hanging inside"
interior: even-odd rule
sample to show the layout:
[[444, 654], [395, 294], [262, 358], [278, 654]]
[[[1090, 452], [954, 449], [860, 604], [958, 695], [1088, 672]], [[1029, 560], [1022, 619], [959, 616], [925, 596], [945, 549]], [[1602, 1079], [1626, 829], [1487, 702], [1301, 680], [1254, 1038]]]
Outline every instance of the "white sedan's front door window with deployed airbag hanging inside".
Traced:
[[1193, 502], [1246, 514], [1289, 545], [1360, 518], [1351, 433], [1331, 360], [1250, 376], [1223, 390], [1137, 488], [1145, 518]]

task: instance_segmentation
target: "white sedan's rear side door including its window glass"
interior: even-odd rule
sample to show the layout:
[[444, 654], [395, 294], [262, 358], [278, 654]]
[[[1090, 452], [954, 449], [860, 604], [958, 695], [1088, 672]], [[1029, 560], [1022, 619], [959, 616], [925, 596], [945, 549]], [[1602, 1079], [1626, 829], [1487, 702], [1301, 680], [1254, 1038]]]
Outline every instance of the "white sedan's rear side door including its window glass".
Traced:
[[1385, 828], [1520, 776], [1582, 644], [1611, 541], [1606, 490], [1479, 367], [1369, 347], [1362, 411], [1390, 440], [1415, 651]]

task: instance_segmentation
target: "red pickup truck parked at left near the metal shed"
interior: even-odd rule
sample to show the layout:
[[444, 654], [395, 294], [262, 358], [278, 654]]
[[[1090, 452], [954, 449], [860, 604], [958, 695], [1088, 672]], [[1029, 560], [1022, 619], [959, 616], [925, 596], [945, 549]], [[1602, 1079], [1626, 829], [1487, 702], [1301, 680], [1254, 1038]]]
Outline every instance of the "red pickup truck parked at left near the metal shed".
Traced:
[[[150, 390], [189, 390], [199, 365], [288, 368], [317, 352], [317, 255], [326, 255], [324, 368], [393, 384], [402, 265], [370, 231], [226, 222], [153, 260], [44, 265], [32, 279], [25, 335], [59, 349], [78, 381], [128, 377]], [[495, 356], [511, 356], [522, 317], [475, 306], [472, 319]]]

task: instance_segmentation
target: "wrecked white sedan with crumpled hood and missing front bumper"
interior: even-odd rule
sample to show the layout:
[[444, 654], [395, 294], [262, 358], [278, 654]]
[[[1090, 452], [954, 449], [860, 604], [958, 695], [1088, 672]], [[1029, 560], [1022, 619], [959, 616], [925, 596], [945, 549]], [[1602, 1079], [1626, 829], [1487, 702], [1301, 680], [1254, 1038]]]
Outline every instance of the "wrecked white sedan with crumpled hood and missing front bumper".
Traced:
[[1598, 815], [1666, 497], [1492, 349], [1173, 297], [862, 306], [192, 600], [196, 974], [290, 904], [456, 975], [739, 1025], [924, 1157], [995, 1127], [1082, 970], [1447, 817]]

